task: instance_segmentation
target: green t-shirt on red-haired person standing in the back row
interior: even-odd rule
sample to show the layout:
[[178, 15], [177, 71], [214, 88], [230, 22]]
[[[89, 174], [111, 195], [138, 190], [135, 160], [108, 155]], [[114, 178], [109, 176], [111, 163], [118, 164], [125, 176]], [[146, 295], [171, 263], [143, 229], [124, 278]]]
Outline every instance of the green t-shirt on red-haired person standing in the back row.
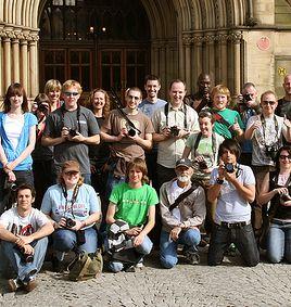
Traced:
[[237, 111], [225, 108], [222, 111], [215, 111], [218, 115], [220, 115], [227, 123], [223, 123], [223, 120], [215, 120], [214, 123], [214, 132], [223, 136], [225, 139], [232, 139], [235, 132], [231, 131], [231, 126], [236, 123], [239, 124], [241, 129], [244, 129], [244, 125], [241, 120], [240, 114]]

